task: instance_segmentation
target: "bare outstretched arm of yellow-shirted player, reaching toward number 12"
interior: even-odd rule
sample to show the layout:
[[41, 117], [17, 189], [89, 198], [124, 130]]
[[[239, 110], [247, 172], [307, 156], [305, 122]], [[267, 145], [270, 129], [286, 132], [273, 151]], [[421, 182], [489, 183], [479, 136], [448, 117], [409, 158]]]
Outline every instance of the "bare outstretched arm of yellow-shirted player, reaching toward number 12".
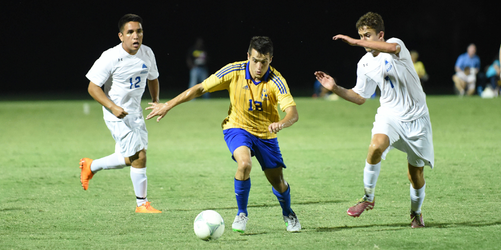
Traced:
[[182, 92], [178, 96], [174, 97], [173, 99], [171, 99], [165, 103], [149, 102], [148, 104], [150, 104], [150, 106], [146, 107], [146, 110], [152, 109], [152, 111], [146, 116], [146, 119], [148, 120], [148, 119], [151, 119], [151, 118], [158, 115], [159, 116], [157, 118], [157, 122], [158, 122], [173, 107], [175, 107], [183, 102], [192, 100], [193, 98], [199, 97], [202, 94], [204, 94], [205, 92], [206, 91], [203, 88], [202, 83], [198, 83], [198, 84], [194, 85], [193, 87], [186, 89], [184, 92]]

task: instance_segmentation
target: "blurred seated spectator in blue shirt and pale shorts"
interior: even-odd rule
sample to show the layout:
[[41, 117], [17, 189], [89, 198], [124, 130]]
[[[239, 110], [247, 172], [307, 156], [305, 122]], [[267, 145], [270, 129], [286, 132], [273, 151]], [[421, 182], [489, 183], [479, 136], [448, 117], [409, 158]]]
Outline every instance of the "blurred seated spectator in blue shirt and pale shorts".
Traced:
[[[469, 73], [464, 72], [464, 68], [469, 68]], [[475, 92], [476, 74], [480, 69], [480, 58], [476, 55], [476, 46], [471, 43], [466, 52], [459, 55], [454, 66], [456, 73], [452, 76], [454, 85], [460, 95], [472, 95]]]

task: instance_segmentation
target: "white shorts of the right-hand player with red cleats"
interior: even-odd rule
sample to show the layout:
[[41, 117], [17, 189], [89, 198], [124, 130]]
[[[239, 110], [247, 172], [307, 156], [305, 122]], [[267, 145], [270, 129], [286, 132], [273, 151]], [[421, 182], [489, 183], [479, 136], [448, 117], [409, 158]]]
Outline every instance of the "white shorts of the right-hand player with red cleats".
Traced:
[[429, 165], [433, 168], [435, 154], [429, 114], [411, 121], [400, 121], [393, 117], [376, 114], [372, 136], [376, 133], [386, 134], [390, 139], [390, 146], [386, 148], [381, 158], [386, 159], [386, 154], [392, 148], [397, 148], [407, 153], [407, 161], [411, 165]]

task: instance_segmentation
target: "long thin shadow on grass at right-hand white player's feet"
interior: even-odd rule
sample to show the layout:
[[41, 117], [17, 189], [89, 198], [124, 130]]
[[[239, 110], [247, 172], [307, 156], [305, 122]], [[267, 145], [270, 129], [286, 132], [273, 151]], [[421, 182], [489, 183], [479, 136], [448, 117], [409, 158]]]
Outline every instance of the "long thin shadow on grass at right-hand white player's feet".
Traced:
[[[429, 222], [425, 225], [428, 228], [450, 228], [450, 227], [463, 227], [463, 226], [471, 226], [471, 227], [480, 227], [480, 226], [489, 226], [489, 225], [500, 225], [501, 221], [465, 221], [458, 223], [433, 223]], [[334, 227], [317, 227], [315, 230], [318, 232], [333, 232], [333, 231], [341, 231], [343, 229], [356, 229], [356, 228], [367, 228], [367, 227], [375, 227], [375, 226], [389, 226], [393, 228], [381, 228], [376, 229], [376, 231], [388, 231], [388, 230], [404, 230], [410, 228], [410, 223], [394, 223], [394, 224], [371, 224], [371, 225], [353, 225], [353, 226], [334, 226]]]

